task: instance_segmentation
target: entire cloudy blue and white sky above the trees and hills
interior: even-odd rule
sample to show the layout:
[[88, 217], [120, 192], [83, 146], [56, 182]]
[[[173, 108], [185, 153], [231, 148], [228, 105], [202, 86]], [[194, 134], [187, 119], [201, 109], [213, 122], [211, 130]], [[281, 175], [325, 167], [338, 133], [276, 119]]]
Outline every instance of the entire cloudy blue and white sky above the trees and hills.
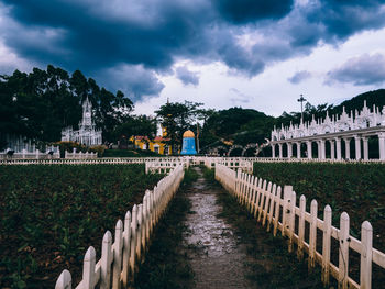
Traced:
[[0, 0], [0, 74], [53, 64], [136, 113], [167, 98], [271, 115], [385, 84], [384, 0]]

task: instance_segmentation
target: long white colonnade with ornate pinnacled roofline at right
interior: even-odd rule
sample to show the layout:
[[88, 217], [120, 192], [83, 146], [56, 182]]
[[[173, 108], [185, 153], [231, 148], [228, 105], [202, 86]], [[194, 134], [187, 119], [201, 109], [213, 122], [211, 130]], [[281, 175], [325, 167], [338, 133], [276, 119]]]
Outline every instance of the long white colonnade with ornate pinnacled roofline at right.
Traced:
[[[316, 156], [326, 159], [328, 146], [330, 159], [367, 160], [369, 137], [378, 138], [378, 158], [385, 160], [385, 107], [380, 111], [373, 105], [371, 111], [365, 101], [363, 109], [355, 110], [354, 113], [351, 111], [348, 114], [343, 108], [341, 115], [330, 118], [327, 114], [324, 120], [317, 121], [312, 115], [311, 122], [304, 123], [301, 120], [300, 124], [290, 123], [290, 126], [274, 127], [271, 140], [272, 156], [280, 158], [314, 158]], [[351, 156], [352, 140], [354, 140], [355, 156]], [[344, 149], [341, 148], [341, 144], [344, 144]], [[278, 146], [278, 152], [276, 146]], [[312, 148], [317, 151], [312, 152]]]

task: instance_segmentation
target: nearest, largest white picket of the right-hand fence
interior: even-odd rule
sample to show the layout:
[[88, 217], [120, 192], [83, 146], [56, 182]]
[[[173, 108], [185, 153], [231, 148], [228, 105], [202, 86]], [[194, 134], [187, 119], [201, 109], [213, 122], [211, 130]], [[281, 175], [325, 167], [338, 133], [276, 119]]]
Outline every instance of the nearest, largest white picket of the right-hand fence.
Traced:
[[373, 227], [370, 222], [365, 221], [361, 226], [361, 289], [372, 288], [372, 253], [373, 253]]

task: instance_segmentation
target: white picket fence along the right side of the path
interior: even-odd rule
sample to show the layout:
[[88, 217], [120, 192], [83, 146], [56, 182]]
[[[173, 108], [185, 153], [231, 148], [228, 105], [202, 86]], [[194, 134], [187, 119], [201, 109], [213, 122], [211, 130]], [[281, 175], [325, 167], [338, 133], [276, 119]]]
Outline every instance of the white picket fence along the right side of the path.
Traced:
[[[309, 268], [315, 267], [316, 262], [322, 267], [322, 281], [329, 285], [330, 276], [339, 282], [339, 288], [372, 288], [372, 264], [385, 268], [385, 254], [373, 248], [373, 229], [370, 222], [364, 221], [361, 227], [361, 241], [349, 234], [350, 220], [346, 212], [340, 216], [340, 229], [331, 224], [331, 208], [326, 205], [323, 220], [317, 218], [318, 203], [311, 201], [310, 212], [306, 211], [306, 198], [301, 196], [299, 207], [296, 205], [296, 192], [292, 186], [282, 188], [275, 184], [263, 180], [252, 175], [234, 171], [221, 164], [216, 165], [216, 179], [238, 201], [267, 226], [267, 232], [273, 229], [274, 236], [277, 230], [283, 236], [288, 237], [288, 252], [293, 252], [294, 243], [297, 244], [297, 255], [299, 259], [307, 253]], [[282, 212], [282, 213], [280, 213]], [[296, 227], [296, 216], [298, 216], [298, 227]], [[305, 225], [309, 224], [309, 243], [305, 240]], [[317, 230], [322, 231], [322, 252], [317, 251]], [[296, 233], [297, 232], [297, 233]], [[330, 259], [331, 237], [339, 243], [339, 264], [336, 265]], [[349, 276], [349, 249], [361, 255], [360, 281], [353, 280]]]

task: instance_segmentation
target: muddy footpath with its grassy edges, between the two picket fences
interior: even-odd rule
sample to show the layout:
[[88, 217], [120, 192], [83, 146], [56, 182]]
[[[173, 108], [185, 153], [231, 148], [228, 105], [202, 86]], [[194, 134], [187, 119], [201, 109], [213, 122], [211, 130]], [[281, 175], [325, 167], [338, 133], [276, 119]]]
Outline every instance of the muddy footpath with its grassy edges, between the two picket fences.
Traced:
[[161, 222], [135, 288], [323, 288], [213, 180], [193, 167]]

